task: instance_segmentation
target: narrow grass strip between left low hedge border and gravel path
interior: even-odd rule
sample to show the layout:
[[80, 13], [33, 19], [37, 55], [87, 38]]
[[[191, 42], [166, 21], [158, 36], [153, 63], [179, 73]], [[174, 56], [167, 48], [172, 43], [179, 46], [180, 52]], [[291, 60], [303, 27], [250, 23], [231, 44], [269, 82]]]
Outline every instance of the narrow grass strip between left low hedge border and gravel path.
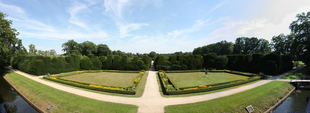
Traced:
[[97, 91], [97, 90], [90, 90], [90, 89], [85, 89], [85, 88], [80, 88], [80, 87], [75, 87], [75, 86], [70, 86], [70, 85], [62, 84], [62, 83], [55, 82], [55, 81], [50, 81], [50, 80], [47, 80], [47, 79], [44, 79], [44, 78], [40, 78], [40, 79], [48, 81], [48, 82], [56, 83], [56, 84], [59, 84], [59, 85], [62, 85], [62, 86], [67, 86], [67, 87], [71, 87], [71, 88], [75, 88], [75, 89], [79, 89], [79, 90], [84, 90], [84, 91], [89, 91], [89, 92], [94, 92], [94, 93], [99, 93], [99, 94], [137, 98], [137, 97], [141, 97], [142, 96], [142, 94], [144, 92], [144, 87], [145, 87], [147, 78], [148, 78], [148, 73], [145, 73], [143, 75], [143, 77], [141, 78], [141, 80], [140, 80], [141, 84], [138, 84], [138, 86], [136, 86], [136, 89], [138, 89], [138, 91], [137, 91], [137, 93], [135, 95], [131, 95], [131, 94], [117, 94], [117, 93], [109, 93], [109, 92], [103, 92], [103, 91]]

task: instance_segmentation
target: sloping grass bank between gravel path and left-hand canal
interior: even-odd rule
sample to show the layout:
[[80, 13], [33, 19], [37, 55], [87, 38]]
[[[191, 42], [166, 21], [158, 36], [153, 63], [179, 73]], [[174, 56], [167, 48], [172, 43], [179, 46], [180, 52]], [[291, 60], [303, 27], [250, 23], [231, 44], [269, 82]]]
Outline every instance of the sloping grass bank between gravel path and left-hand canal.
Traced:
[[99, 101], [61, 91], [33, 81], [17, 73], [10, 72], [4, 76], [17, 90], [43, 111], [49, 104], [54, 105], [50, 112], [55, 113], [107, 113], [138, 111], [138, 106]]

